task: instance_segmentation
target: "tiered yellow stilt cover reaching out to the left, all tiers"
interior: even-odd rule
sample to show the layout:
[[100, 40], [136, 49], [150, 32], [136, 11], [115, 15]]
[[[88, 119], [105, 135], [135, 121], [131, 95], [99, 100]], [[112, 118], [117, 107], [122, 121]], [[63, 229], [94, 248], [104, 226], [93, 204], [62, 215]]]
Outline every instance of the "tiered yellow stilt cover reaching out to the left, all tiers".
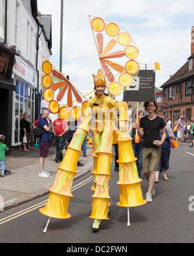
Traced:
[[56, 179], [49, 189], [50, 195], [47, 205], [39, 209], [43, 215], [51, 218], [70, 218], [67, 213], [69, 200], [72, 197], [72, 181], [76, 175], [76, 167], [81, 153], [81, 145], [87, 132], [78, 129], [67, 148], [65, 157], [58, 168]]

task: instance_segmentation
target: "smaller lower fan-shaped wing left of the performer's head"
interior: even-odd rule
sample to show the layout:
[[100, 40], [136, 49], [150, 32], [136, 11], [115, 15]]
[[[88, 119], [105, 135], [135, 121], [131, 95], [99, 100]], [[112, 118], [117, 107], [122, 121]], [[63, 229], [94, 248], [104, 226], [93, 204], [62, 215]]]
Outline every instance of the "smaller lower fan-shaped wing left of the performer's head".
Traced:
[[[43, 56], [44, 57], [44, 56]], [[64, 120], [77, 120], [81, 118], [87, 106], [87, 101], [83, 102], [83, 96], [78, 89], [63, 74], [61, 74], [45, 57], [42, 65], [42, 90], [43, 98], [48, 102], [50, 112], [59, 114]], [[60, 90], [59, 90], [60, 89]], [[67, 91], [68, 89], [68, 91]], [[59, 102], [64, 99], [67, 91], [67, 105], [59, 106]], [[54, 95], [56, 99], [54, 100]], [[74, 102], [80, 106], [73, 106], [72, 94], [74, 95]], [[66, 99], [66, 98], [65, 98]], [[86, 99], [86, 98], [85, 98]], [[87, 99], [86, 99], [87, 100]]]

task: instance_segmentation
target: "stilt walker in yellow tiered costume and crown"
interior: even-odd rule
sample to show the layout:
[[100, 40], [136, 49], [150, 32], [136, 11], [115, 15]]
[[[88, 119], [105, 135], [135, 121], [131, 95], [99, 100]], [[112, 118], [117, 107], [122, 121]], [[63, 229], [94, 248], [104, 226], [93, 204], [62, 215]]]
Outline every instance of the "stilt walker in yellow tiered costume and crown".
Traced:
[[[98, 74], [95, 76], [93, 75], [93, 77], [95, 95], [89, 99], [85, 117], [74, 134], [74, 137], [67, 148], [65, 157], [58, 168], [56, 180], [49, 190], [50, 196], [47, 205], [45, 208], [39, 209], [39, 211], [50, 218], [70, 218], [70, 214], [67, 213], [67, 211], [69, 200], [72, 197], [72, 181], [76, 175], [76, 166], [81, 153], [81, 145], [91, 126], [93, 115], [94, 122], [91, 127], [93, 150], [91, 155], [94, 157], [94, 169], [92, 169], [94, 184], [91, 189], [94, 191], [94, 194], [92, 196], [92, 214], [89, 218], [94, 218], [92, 229], [98, 231], [101, 220], [109, 220], [108, 211], [110, 197], [108, 183], [111, 178], [111, 159], [114, 156], [112, 154], [112, 147], [115, 143], [118, 143], [119, 154], [122, 155], [118, 159], [118, 162], [120, 163], [120, 167], [122, 167], [122, 174], [124, 175], [124, 177], [120, 177], [120, 199], [122, 199], [122, 202], [118, 205], [124, 207], [131, 206], [124, 202], [129, 201], [127, 200], [130, 186], [128, 183], [138, 183], [137, 189], [136, 187], [132, 188], [136, 204], [133, 206], [145, 204], [146, 201], [143, 200], [142, 191], [139, 185], [141, 180], [138, 179], [137, 170], [135, 168], [136, 158], [133, 155], [132, 145], [130, 147], [129, 144], [129, 142], [131, 142], [131, 137], [127, 133], [127, 121], [129, 120], [129, 117], [127, 116], [127, 104], [125, 102], [118, 103], [116, 100], [105, 95], [105, 75], [102, 74], [101, 69], [99, 69]], [[117, 121], [114, 108], [120, 113], [119, 134], [114, 125], [114, 122]], [[129, 146], [129, 149], [127, 149], [127, 146]], [[125, 150], [127, 150], [127, 154], [125, 154]], [[127, 162], [125, 161], [125, 155], [127, 157]], [[127, 178], [129, 176], [129, 168], [131, 168], [129, 166], [130, 163], [128, 162], [132, 162], [133, 165], [129, 177], [131, 180]], [[134, 174], [135, 171], [136, 174]], [[131, 199], [130, 196], [129, 199]], [[47, 232], [47, 226], [45, 232]]]

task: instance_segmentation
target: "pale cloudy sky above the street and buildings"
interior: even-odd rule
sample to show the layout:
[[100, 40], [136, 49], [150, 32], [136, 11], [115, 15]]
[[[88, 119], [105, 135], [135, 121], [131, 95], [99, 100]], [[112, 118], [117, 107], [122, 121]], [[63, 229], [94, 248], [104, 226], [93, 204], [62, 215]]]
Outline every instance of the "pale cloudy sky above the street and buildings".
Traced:
[[[100, 66], [89, 16], [120, 25], [135, 41], [140, 52], [140, 69], [155, 69], [155, 86], [160, 87], [191, 55], [193, 0], [64, 0], [63, 71], [81, 93], [94, 87], [92, 74]], [[41, 14], [52, 15], [52, 56], [59, 69], [60, 0], [38, 0]], [[146, 65], [145, 65], [146, 64]]]

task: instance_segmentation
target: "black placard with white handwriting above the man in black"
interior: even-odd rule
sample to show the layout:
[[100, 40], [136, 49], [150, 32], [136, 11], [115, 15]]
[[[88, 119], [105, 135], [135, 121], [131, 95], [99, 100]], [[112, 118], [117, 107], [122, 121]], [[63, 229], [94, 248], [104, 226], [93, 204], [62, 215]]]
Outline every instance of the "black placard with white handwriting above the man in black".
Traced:
[[124, 91], [124, 101], [146, 102], [155, 100], [155, 71], [140, 70], [135, 82]]

